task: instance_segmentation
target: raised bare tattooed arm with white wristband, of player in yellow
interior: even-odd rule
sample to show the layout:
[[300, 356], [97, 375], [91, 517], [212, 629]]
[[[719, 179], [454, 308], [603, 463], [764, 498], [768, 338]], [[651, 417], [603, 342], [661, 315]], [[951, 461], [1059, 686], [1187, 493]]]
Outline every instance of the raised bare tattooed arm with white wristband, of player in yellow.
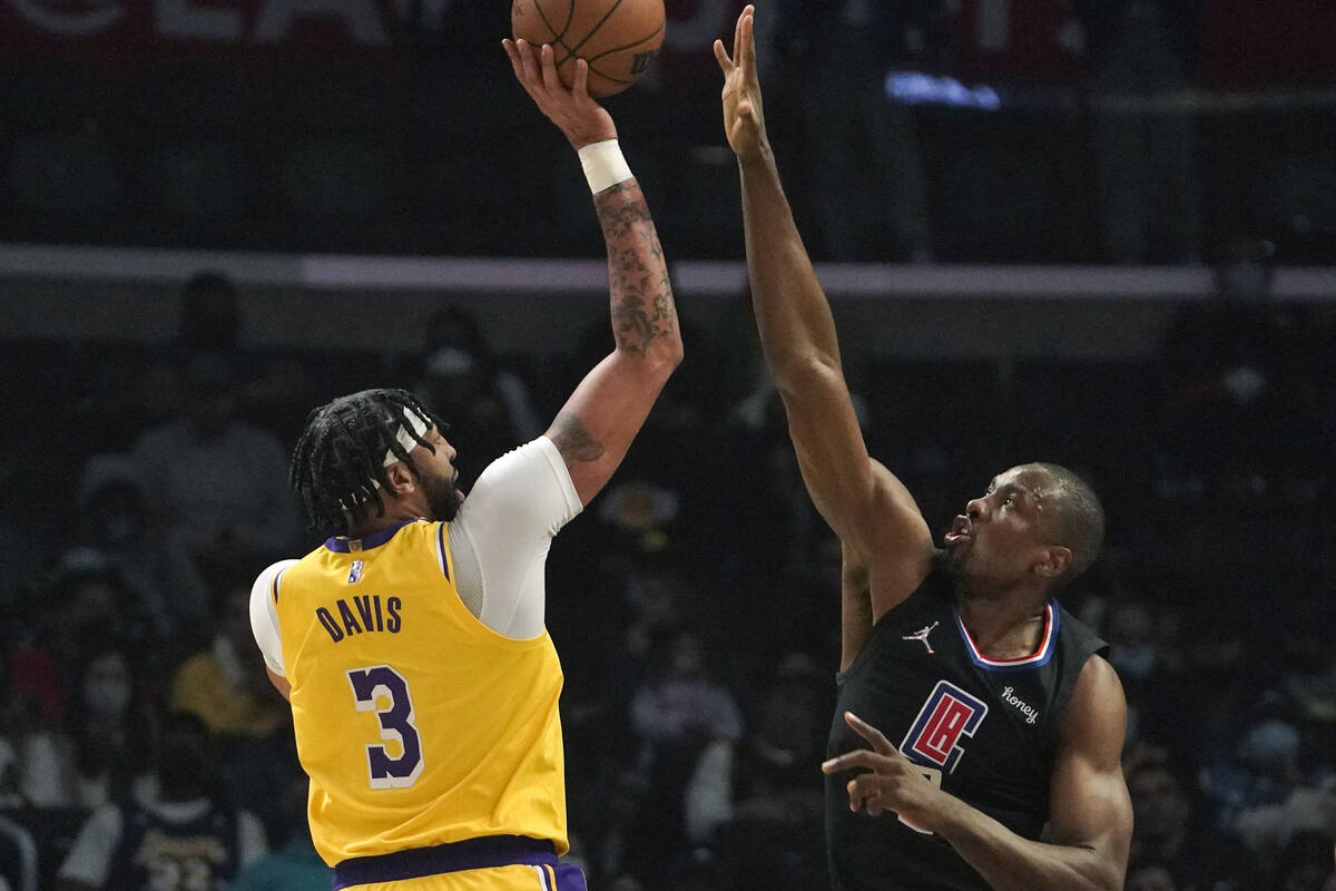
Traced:
[[566, 90], [552, 47], [502, 44], [525, 91], [580, 152], [608, 246], [613, 351], [585, 375], [544, 434], [561, 452], [580, 501], [589, 504], [681, 362], [677, 310], [645, 196], [617, 150], [612, 116], [585, 87], [588, 64], [576, 63], [574, 83]]

